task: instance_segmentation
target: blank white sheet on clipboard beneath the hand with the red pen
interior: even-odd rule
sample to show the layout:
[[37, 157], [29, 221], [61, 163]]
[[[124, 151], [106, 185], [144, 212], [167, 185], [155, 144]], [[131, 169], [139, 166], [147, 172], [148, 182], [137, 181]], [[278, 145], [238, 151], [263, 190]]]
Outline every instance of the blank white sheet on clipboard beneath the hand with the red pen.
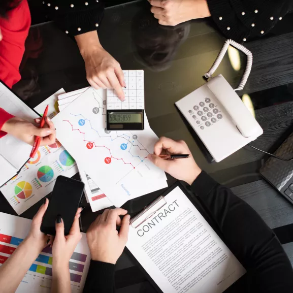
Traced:
[[[34, 118], [39, 117], [2, 83], [0, 83], [0, 107], [14, 116], [31, 122], [34, 121]], [[0, 166], [5, 164], [5, 161], [2, 159], [4, 157], [17, 172], [29, 158], [31, 149], [32, 147], [30, 145], [7, 134], [0, 140], [0, 152], [2, 155], [0, 157]], [[0, 186], [10, 178], [9, 176], [0, 178], [0, 182], [2, 182]]]

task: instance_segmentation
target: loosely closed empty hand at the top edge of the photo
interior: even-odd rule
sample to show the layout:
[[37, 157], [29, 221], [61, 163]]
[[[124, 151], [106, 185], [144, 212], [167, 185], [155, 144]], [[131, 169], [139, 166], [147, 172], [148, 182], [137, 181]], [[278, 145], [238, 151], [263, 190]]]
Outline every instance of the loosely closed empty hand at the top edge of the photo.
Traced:
[[162, 25], [179, 23], [211, 16], [207, 0], [148, 0], [151, 12]]

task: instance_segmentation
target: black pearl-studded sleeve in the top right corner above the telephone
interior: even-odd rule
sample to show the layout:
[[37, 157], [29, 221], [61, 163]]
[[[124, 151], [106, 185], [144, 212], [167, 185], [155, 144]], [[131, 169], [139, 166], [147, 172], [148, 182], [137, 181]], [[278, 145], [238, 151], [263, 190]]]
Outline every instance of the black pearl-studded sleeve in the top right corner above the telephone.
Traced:
[[291, 0], [207, 0], [223, 34], [237, 42], [267, 34], [293, 9]]

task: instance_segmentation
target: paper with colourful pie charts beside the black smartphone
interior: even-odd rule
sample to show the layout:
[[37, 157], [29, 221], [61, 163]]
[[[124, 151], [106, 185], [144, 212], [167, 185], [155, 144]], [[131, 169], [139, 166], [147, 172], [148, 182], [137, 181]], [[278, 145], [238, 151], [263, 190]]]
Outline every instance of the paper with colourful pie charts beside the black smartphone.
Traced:
[[[53, 117], [59, 92], [64, 91], [59, 90], [35, 109], [43, 114], [43, 110], [49, 105], [48, 116]], [[29, 147], [31, 151], [31, 146]], [[29, 159], [20, 173], [7, 182], [0, 191], [20, 215], [53, 190], [57, 176], [72, 177], [77, 172], [75, 160], [56, 140], [52, 145], [40, 147], [35, 157]]]

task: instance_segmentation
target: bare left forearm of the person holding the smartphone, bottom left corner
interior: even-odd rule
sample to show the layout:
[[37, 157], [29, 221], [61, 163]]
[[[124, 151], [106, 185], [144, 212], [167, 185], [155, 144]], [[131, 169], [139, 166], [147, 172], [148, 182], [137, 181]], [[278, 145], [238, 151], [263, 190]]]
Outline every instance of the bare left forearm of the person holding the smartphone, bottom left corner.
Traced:
[[25, 239], [0, 267], [0, 288], [2, 293], [15, 292], [25, 273], [41, 251], [34, 241]]

